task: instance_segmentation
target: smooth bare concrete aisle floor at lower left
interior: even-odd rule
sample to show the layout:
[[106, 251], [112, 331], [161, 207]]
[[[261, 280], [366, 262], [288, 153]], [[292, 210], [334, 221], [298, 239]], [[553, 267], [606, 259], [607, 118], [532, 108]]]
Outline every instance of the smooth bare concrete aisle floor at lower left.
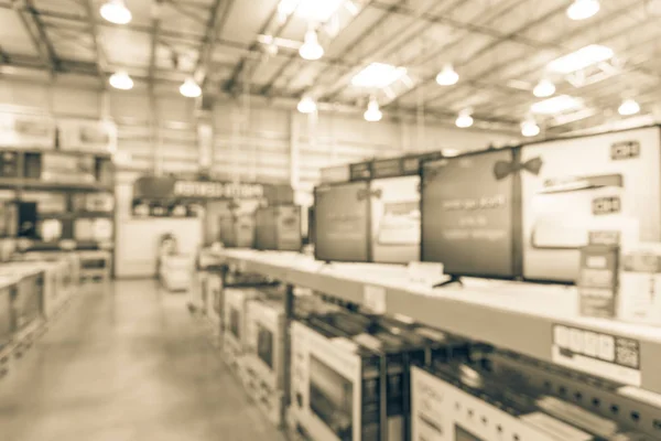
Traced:
[[0, 380], [2, 441], [282, 441], [153, 281], [87, 289]]

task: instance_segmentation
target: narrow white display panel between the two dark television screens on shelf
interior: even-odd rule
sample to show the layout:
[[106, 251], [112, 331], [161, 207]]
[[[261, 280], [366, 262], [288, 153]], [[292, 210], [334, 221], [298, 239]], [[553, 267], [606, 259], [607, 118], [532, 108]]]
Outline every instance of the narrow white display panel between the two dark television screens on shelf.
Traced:
[[371, 182], [371, 254], [381, 263], [420, 259], [420, 176]]

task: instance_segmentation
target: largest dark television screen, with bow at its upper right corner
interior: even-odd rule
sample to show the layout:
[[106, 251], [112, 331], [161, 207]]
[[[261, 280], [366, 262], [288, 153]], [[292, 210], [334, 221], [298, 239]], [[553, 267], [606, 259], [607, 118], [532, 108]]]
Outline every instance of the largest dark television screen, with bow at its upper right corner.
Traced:
[[520, 276], [514, 154], [487, 150], [423, 165], [423, 261], [443, 263], [447, 275]]

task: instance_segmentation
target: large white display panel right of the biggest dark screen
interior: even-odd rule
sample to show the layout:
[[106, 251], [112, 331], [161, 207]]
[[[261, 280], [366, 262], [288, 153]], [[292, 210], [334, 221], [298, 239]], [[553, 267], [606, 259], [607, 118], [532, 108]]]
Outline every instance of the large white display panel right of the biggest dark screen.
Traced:
[[644, 128], [525, 146], [522, 161], [523, 276], [568, 281], [578, 248], [608, 217], [637, 219], [640, 239], [661, 239], [661, 132]]

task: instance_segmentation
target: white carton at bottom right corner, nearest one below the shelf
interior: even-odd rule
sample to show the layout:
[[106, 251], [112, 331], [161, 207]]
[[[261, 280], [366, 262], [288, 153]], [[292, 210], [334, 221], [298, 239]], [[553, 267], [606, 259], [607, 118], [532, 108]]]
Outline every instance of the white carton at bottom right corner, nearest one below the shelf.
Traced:
[[611, 420], [479, 365], [414, 367], [411, 376], [415, 441], [646, 439], [640, 433], [624, 433]]

